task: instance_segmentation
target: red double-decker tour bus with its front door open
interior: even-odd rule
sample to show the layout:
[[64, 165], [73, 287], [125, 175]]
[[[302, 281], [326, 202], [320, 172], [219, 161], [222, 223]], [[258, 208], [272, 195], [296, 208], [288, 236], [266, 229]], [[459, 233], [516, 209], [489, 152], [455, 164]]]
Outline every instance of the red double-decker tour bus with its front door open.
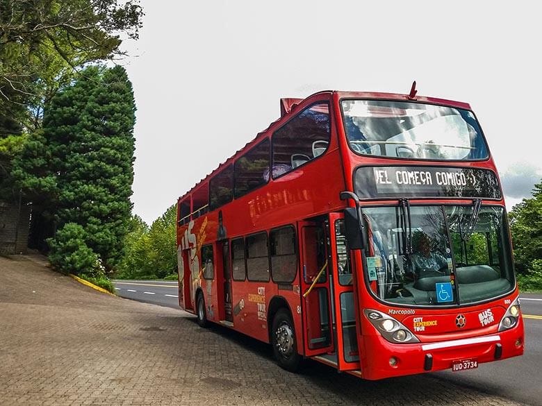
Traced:
[[179, 304], [377, 380], [523, 353], [509, 226], [470, 106], [319, 92], [178, 201]]

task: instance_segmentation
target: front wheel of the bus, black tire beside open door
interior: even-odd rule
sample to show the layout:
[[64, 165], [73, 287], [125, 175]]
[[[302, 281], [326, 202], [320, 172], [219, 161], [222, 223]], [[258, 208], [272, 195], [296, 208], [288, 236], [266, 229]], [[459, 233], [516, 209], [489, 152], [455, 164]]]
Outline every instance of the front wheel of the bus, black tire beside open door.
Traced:
[[302, 357], [297, 353], [295, 328], [290, 312], [280, 309], [274, 315], [271, 330], [271, 345], [275, 360], [286, 371], [295, 372], [299, 369]]

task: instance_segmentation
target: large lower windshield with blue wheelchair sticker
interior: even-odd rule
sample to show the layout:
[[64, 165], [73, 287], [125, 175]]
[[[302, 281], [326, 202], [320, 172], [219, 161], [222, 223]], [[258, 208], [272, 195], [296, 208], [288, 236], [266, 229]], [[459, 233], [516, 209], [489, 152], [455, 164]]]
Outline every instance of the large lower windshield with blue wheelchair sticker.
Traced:
[[502, 207], [378, 207], [363, 217], [369, 289], [383, 301], [463, 305], [514, 288]]

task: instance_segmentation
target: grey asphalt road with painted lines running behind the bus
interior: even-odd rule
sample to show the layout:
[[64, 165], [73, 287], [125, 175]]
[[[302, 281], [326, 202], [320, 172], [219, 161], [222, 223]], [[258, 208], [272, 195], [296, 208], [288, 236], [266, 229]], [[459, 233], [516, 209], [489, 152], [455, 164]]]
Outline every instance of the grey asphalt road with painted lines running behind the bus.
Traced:
[[[114, 280], [117, 294], [136, 301], [179, 307], [176, 282]], [[521, 294], [525, 354], [481, 364], [478, 369], [432, 373], [436, 378], [529, 405], [542, 405], [542, 294]], [[532, 317], [531, 317], [532, 316]], [[540, 316], [540, 319], [536, 319]]]

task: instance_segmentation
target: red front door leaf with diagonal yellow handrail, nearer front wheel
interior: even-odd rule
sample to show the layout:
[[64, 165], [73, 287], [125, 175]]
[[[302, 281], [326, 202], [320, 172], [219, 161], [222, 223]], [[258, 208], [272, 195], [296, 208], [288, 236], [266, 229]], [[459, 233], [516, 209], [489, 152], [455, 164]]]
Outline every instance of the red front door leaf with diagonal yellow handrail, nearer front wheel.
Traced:
[[331, 353], [333, 334], [324, 223], [298, 221], [304, 350], [306, 356]]

